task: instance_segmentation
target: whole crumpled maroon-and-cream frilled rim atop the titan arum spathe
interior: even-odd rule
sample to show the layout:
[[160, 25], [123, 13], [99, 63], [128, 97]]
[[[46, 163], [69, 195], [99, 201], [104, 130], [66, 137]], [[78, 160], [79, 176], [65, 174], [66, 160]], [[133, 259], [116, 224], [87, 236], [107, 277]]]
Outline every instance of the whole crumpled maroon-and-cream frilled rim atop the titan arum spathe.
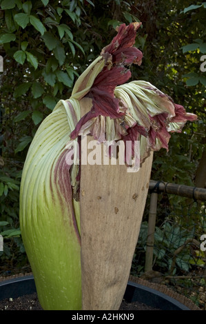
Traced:
[[132, 148], [135, 141], [140, 141], [143, 161], [151, 150], [168, 150], [170, 133], [181, 132], [186, 121], [197, 117], [147, 81], [127, 83], [130, 66], [140, 65], [143, 58], [142, 52], [134, 47], [140, 26], [141, 23], [119, 26], [116, 37], [101, 51], [101, 57], [92, 63], [92, 68], [87, 68], [88, 73], [84, 72], [85, 86], [93, 80], [85, 93], [85, 97], [92, 99], [92, 108], [76, 123], [71, 139], [90, 134], [100, 143], [132, 141]]

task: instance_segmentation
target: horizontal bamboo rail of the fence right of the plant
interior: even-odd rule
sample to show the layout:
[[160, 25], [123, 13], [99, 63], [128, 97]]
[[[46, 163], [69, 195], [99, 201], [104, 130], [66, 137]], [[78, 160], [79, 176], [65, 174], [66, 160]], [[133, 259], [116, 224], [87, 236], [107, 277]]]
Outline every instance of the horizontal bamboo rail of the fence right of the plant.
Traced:
[[[158, 181], [150, 180], [150, 190], [154, 189], [154, 186], [157, 183]], [[175, 183], [164, 183], [161, 181], [158, 183], [158, 191], [167, 192], [167, 194], [177, 194], [178, 196], [184, 196], [198, 201], [206, 201], [205, 188], [196, 188], [189, 185], [176, 185]]]

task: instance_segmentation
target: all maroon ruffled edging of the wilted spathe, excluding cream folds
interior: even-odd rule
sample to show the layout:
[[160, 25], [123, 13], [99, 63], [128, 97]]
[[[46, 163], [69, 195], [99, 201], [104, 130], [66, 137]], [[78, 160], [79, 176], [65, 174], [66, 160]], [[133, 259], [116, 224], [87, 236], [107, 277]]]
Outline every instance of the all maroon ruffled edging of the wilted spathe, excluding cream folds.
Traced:
[[[118, 28], [116, 37], [101, 51], [101, 56], [105, 60], [105, 66], [94, 80], [90, 92], [85, 96], [92, 99], [92, 109], [76, 124], [76, 128], [71, 134], [71, 139], [76, 139], [83, 125], [96, 117], [110, 117], [117, 121], [123, 121], [127, 107], [125, 106], [125, 109], [120, 110], [124, 104], [121, 102], [121, 99], [114, 96], [114, 90], [117, 85], [122, 85], [130, 79], [129, 65], [132, 63], [141, 65], [143, 54], [140, 50], [133, 47], [136, 30], [140, 26], [141, 23], [130, 23], [129, 26], [122, 24]], [[141, 135], [147, 138], [148, 148], [154, 151], [160, 148], [168, 150], [168, 143], [171, 137], [169, 132], [181, 132], [181, 128], [186, 121], [197, 119], [196, 115], [187, 113], [182, 105], [177, 105], [172, 101], [172, 98], [167, 96], [167, 94], [163, 94], [155, 87], [147, 86], [145, 89], [151, 91], [148, 95], [152, 95], [151, 100], [155, 99], [154, 103], [158, 104], [158, 101], [161, 101], [161, 105], [165, 104], [166, 112], [156, 114], [153, 117], [149, 115], [147, 129], [145, 126], [138, 125], [138, 123], [134, 123], [130, 127], [124, 123], [123, 128], [121, 128], [119, 122], [115, 123], [115, 127], [121, 129], [119, 132], [120, 138], [125, 143], [126, 141], [132, 141], [132, 156], [134, 156], [134, 141], [137, 141]], [[155, 98], [153, 98], [154, 95]], [[168, 105], [169, 102], [172, 103], [172, 108], [170, 107], [171, 105]], [[95, 123], [99, 125], [99, 120], [96, 119]], [[175, 130], [169, 130], [169, 123], [180, 123], [182, 125], [178, 125]], [[99, 130], [98, 127], [97, 129]], [[124, 129], [124, 132], [122, 132], [122, 129]], [[97, 141], [105, 138], [105, 136], [102, 136], [102, 131], [103, 129], [100, 132], [96, 132], [94, 125], [90, 128], [90, 134]], [[156, 140], [158, 140], [158, 143]]]

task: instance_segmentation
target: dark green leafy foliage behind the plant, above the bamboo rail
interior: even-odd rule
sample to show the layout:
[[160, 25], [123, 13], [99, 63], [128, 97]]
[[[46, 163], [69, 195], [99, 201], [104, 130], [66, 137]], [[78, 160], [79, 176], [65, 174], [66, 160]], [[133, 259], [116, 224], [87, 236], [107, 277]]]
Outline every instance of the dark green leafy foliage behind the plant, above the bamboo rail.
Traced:
[[19, 236], [19, 185], [32, 138], [76, 78], [110, 43], [120, 23], [142, 21], [143, 51], [132, 79], [149, 81], [198, 121], [172, 134], [169, 152], [154, 155], [152, 179], [194, 185], [205, 150], [206, 3], [193, 1], [1, 0], [0, 273], [25, 265]]

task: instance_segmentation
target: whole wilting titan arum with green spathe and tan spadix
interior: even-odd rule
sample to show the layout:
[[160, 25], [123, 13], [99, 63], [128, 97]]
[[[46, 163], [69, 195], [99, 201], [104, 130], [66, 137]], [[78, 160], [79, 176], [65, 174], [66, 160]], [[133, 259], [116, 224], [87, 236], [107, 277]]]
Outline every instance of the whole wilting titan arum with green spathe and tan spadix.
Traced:
[[[127, 83], [130, 66], [141, 65], [143, 57], [134, 47], [140, 26], [119, 26], [110, 45], [77, 79], [70, 99], [60, 100], [41, 123], [28, 150], [21, 233], [44, 310], [119, 309], [152, 152], [168, 150], [170, 133], [196, 119], [149, 82]], [[110, 156], [117, 141], [132, 143], [132, 150], [125, 152], [125, 165], [85, 165], [82, 136], [101, 147], [106, 142]], [[137, 141], [141, 168], [127, 172]]]

